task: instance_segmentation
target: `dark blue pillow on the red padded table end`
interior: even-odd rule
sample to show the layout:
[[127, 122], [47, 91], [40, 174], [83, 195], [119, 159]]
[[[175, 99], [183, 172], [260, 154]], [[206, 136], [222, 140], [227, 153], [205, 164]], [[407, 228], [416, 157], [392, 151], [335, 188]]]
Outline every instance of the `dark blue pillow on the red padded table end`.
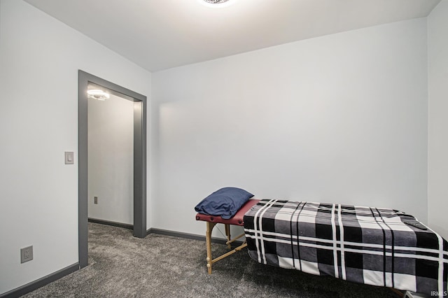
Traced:
[[228, 220], [235, 215], [253, 194], [237, 187], [224, 187], [216, 190], [195, 206], [195, 211], [208, 215], [221, 215]]

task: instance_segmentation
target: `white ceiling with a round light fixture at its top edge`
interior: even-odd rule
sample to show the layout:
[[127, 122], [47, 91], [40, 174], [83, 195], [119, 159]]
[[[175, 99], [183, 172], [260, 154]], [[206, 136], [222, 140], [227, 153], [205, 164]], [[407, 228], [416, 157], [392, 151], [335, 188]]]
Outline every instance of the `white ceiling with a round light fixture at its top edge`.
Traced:
[[426, 17], [440, 0], [25, 0], [148, 71]]

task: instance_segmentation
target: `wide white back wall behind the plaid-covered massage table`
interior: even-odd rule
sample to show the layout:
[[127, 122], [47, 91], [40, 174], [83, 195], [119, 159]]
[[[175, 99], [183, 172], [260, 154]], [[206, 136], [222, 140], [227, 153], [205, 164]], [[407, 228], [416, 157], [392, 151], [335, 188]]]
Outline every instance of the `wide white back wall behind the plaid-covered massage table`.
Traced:
[[426, 222], [426, 37], [423, 18], [153, 73], [153, 227], [204, 234], [193, 207], [224, 186]]

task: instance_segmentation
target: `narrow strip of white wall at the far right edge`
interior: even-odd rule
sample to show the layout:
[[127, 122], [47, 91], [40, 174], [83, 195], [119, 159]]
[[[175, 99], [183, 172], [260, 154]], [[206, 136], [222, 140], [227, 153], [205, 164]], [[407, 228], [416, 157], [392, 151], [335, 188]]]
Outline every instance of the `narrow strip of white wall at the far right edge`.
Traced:
[[428, 222], [448, 239], [448, 1], [428, 16]]

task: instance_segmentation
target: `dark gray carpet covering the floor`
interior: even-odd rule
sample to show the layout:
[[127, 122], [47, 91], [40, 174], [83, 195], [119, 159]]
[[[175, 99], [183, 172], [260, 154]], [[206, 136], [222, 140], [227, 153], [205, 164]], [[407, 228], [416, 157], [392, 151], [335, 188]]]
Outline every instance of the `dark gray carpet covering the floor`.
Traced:
[[[205, 224], [204, 224], [205, 229]], [[225, 253], [213, 244], [214, 256]], [[207, 274], [205, 241], [89, 222], [89, 265], [24, 297], [363, 297], [397, 298], [386, 288], [258, 264], [246, 250]]]

